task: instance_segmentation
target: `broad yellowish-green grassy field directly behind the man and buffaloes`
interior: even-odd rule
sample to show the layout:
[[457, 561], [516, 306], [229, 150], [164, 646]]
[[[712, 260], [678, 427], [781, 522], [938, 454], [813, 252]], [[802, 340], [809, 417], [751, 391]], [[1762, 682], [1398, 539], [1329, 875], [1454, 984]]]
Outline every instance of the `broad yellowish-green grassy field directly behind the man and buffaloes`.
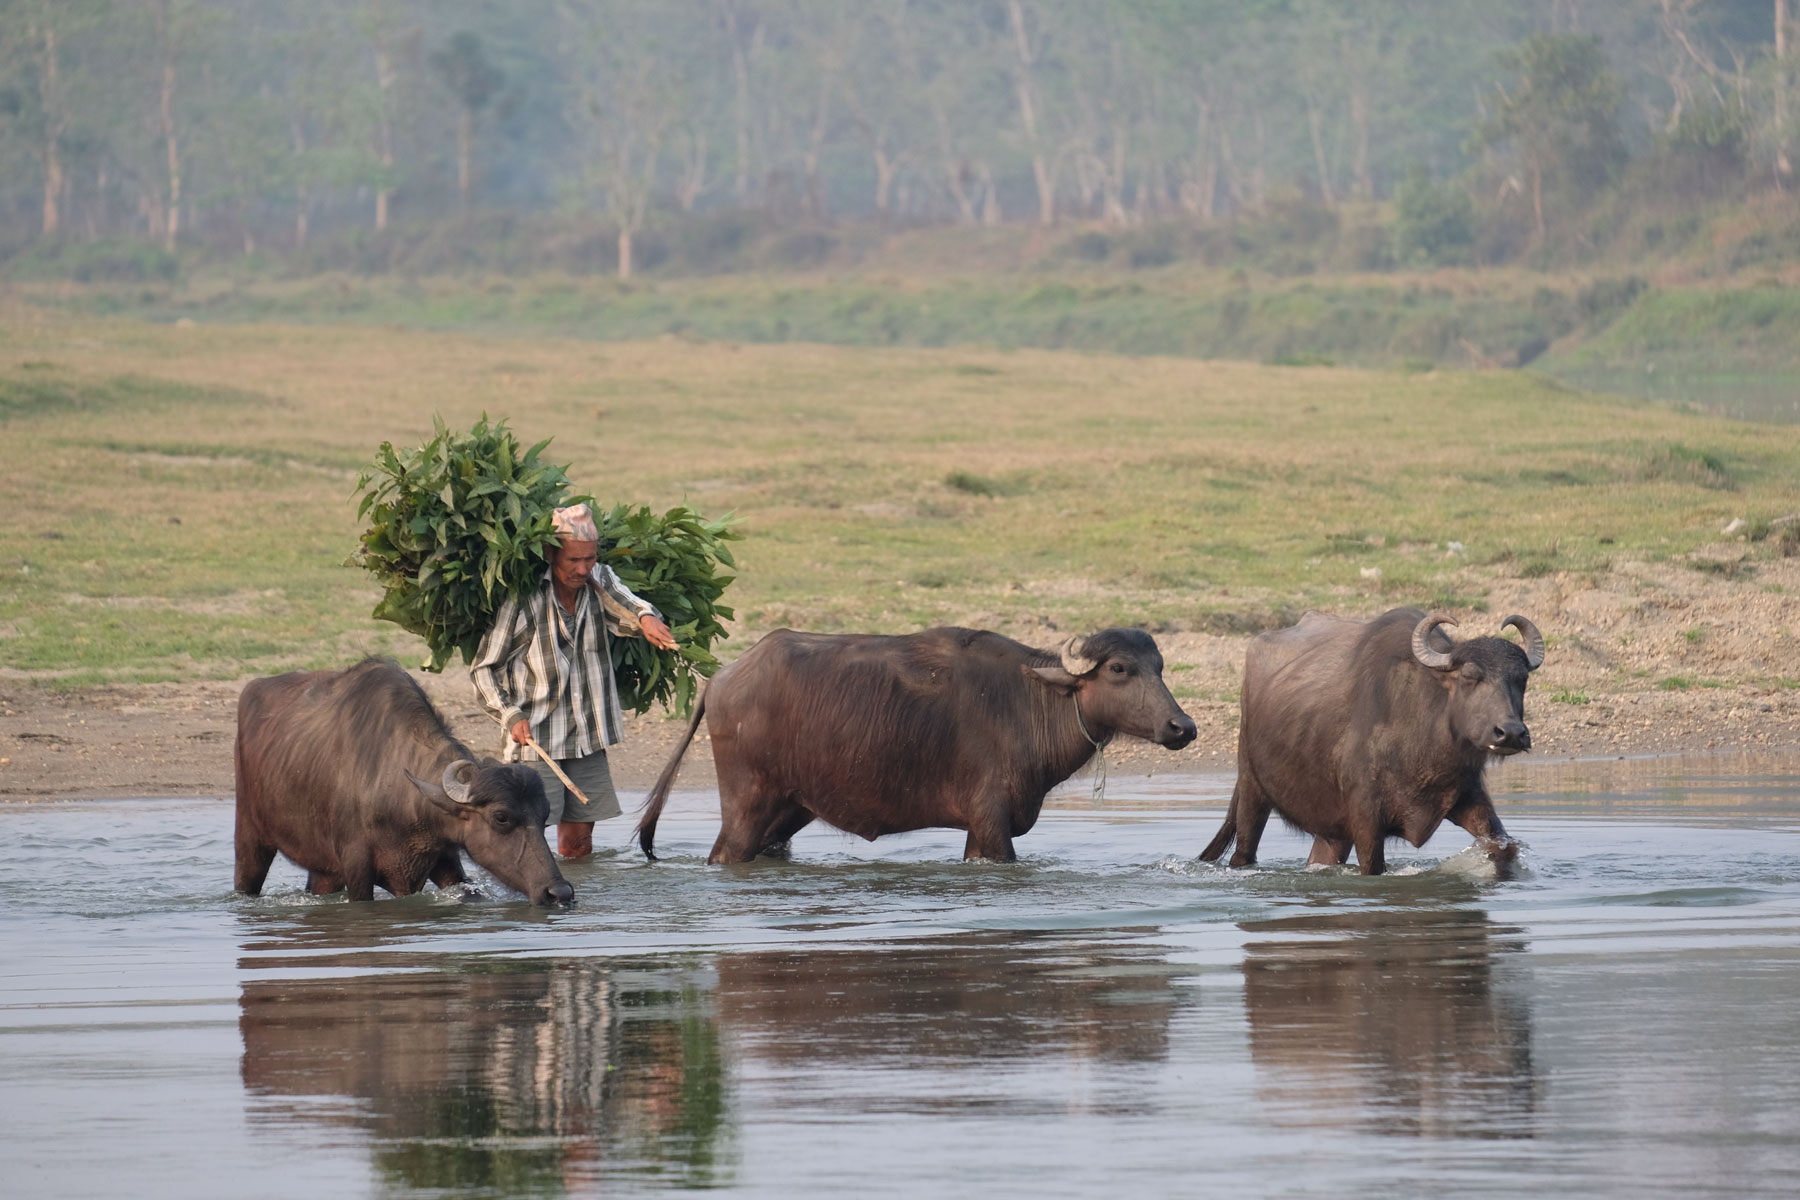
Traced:
[[[1523, 372], [592, 342], [0, 308], [0, 667], [230, 678], [418, 642], [344, 560], [434, 412], [601, 500], [736, 511], [740, 626], [1256, 630], [1679, 560], [1800, 507], [1800, 439]], [[1759, 525], [1759, 522], [1762, 522]], [[725, 646], [727, 657], [733, 646]]]

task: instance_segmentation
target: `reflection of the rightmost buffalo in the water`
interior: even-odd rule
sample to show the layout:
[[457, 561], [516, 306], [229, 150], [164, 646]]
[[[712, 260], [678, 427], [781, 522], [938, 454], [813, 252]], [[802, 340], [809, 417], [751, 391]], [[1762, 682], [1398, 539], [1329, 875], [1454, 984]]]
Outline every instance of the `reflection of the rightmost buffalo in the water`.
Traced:
[[[1532, 1024], [1494, 986], [1523, 948], [1469, 910], [1323, 912], [1253, 921], [1244, 957], [1251, 1056], [1305, 1123], [1384, 1133], [1528, 1137]], [[1512, 930], [1507, 930], [1512, 932]]]

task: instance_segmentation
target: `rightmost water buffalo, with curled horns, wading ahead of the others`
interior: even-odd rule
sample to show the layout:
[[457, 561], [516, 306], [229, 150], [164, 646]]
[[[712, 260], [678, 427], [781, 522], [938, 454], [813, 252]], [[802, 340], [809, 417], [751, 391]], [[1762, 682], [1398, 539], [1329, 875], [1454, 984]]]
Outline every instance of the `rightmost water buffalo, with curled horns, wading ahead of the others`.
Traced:
[[1451, 642], [1417, 608], [1373, 621], [1307, 613], [1264, 633], [1244, 658], [1238, 779], [1211, 862], [1237, 840], [1233, 867], [1256, 862], [1269, 811], [1314, 835], [1310, 862], [1341, 864], [1355, 849], [1363, 874], [1381, 874], [1382, 842], [1413, 846], [1449, 817], [1496, 864], [1517, 856], [1481, 783], [1490, 756], [1532, 748], [1525, 682], [1544, 639], [1525, 617], [1525, 646], [1503, 637]]

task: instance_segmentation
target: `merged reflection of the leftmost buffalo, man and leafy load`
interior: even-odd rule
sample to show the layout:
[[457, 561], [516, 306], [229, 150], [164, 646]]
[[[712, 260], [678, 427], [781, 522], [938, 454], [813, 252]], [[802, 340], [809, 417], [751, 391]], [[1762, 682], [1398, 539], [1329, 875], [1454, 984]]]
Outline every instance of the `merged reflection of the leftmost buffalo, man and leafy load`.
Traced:
[[[247, 966], [257, 966], [256, 961]], [[243, 1083], [346, 1096], [281, 1108], [365, 1126], [409, 1187], [504, 1193], [590, 1178], [619, 1160], [718, 1182], [718, 1031], [691, 981], [592, 963], [245, 984]]]

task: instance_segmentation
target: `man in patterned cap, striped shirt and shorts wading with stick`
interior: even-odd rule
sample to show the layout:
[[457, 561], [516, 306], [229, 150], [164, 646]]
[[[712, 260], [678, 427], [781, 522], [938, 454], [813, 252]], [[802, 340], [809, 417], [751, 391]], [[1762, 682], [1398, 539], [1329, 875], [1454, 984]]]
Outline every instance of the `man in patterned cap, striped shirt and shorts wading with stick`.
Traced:
[[625, 723], [608, 637], [643, 633], [657, 649], [675, 649], [675, 637], [653, 604], [599, 565], [592, 509], [556, 509], [554, 529], [544, 587], [500, 604], [470, 678], [475, 698], [511, 736], [506, 761], [520, 761], [535, 738], [587, 793], [583, 804], [547, 763], [533, 763], [551, 801], [556, 853], [581, 858], [594, 853], [594, 822], [619, 815], [607, 747], [625, 739]]

